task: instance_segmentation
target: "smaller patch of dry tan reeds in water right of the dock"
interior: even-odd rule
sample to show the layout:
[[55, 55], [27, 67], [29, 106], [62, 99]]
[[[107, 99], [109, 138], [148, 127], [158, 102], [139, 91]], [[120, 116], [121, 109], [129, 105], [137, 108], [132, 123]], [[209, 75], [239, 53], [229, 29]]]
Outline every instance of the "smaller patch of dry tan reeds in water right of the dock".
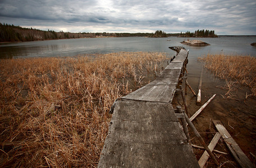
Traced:
[[[234, 96], [230, 93], [232, 90], [236, 90], [232, 87], [236, 83], [249, 86], [252, 95], [256, 96], [256, 58], [241, 55], [208, 54], [199, 60], [205, 62], [205, 68], [226, 80], [227, 88], [229, 88], [226, 96]], [[246, 95], [247, 97], [248, 95]]]

